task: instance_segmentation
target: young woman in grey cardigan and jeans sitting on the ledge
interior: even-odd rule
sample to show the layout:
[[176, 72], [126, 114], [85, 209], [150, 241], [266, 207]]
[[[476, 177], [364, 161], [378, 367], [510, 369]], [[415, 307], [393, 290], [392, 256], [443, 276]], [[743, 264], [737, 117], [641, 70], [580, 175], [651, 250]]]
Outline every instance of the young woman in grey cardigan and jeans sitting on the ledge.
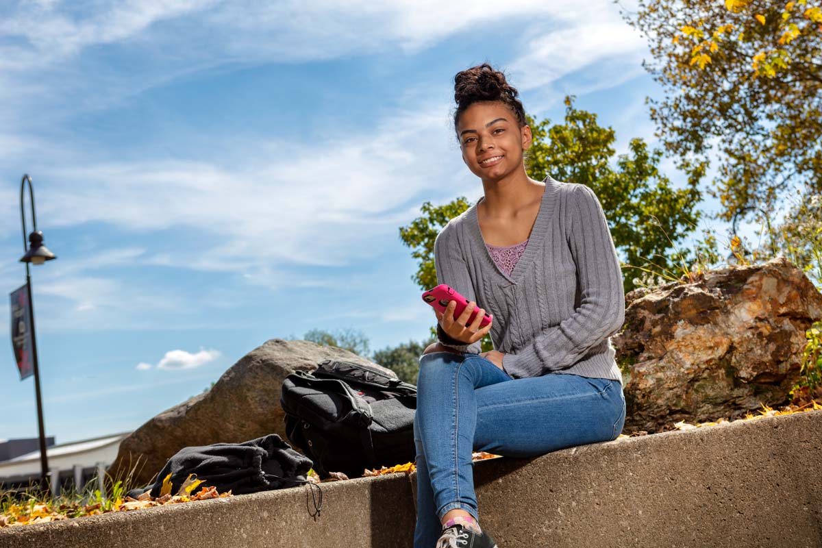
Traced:
[[[456, 135], [484, 196], [434, 244], [437, 283], [469, 306], [435, 311], [439, 343], [420, 357], [415, 548], [496, 546], [478, 523], [472, 451], [531, 457], [613, 440], [625, 423], [609, 338], [625, 315], [617, 250], [589, 187], [525, 173], [517, 95], [487, 64], [455, 76]], [[495, 349], [480, 353], [489, 332]]]

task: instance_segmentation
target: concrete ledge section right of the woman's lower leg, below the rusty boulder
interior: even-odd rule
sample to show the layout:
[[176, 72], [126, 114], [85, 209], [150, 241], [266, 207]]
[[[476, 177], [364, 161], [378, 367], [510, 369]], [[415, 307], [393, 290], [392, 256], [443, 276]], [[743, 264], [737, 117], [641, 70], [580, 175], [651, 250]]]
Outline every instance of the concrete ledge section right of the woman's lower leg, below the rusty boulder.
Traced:
[[474, 471], [480, 524], [501, 548], [818, 547], [820, 448], [815, 411], [498, 459]]

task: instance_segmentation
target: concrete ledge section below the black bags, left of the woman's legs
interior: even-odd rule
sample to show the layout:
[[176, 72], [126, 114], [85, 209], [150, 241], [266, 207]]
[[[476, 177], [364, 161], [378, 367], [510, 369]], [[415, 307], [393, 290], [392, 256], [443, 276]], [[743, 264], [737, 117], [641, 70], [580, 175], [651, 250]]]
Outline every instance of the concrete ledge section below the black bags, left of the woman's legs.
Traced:
[[[412, 545], [411, 484], [405, 474], [321, 485], [320, 518], [308, 486], [6, 527], [2, 548], [317, 548]], [[314, 489], [316, 495], [316, 489]]]

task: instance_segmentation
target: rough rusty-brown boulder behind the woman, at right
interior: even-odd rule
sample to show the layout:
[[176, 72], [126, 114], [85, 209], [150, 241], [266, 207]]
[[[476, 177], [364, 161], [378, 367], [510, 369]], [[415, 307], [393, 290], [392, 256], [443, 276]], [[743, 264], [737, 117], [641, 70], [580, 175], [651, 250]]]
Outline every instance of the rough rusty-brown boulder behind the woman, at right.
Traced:
[[624, 431], [655, 432], [787, 403], [822, 294], [778, 257], [629, 292], [625, 318], [612, 338], [626, 379]]

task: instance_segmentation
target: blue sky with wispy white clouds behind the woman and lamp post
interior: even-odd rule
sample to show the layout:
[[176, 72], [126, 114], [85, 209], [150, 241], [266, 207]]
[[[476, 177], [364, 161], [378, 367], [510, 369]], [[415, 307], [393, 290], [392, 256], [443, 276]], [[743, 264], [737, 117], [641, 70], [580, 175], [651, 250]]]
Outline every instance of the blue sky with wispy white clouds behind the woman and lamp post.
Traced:
[[[48, 435], [133, 430], [269, 338], [426, 337], [398, 228], [482, 193], [455, 72], [504, 68], [554, 122], [576, 94], [624, 152], [653, 142], [645, 57], [608, 0], [2, 2], [0, 289], [25, 283], [29, 173], [58, 255], [32, 268]], [[35, 436], [6, 344], [0, 438]]]

